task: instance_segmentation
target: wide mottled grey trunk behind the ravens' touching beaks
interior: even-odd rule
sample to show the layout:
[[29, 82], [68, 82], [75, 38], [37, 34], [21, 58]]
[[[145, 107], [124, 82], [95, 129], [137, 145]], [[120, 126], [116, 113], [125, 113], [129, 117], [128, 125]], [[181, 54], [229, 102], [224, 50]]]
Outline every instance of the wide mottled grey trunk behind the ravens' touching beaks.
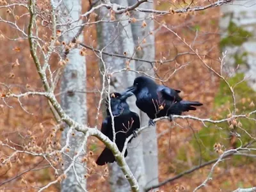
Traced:
[[[126, 0], [116, 0], [112, 3], [127, 6]], [[112, 15], [112, 17], [115, 17], [116, 19], [124, 19], [127, 16], [124, 14]], [[99, 20], [102, 19], [111, 19], [110, 12], [106, 8], [100, 9]], [[128, 20], [120, 20], [120, 22], [100, 22], [97, 26], [97, 31], [100, 49], [108, 45], [104, 51], [132, 56], [134, 52], [134, 42], [132, 40], [131, 24], [129, 24]], [[111, 72], [125, 68], [125, 61], [127, 61], [124, 58], [113, 58], [106, 55], [103, 55], [103, 60], [106, 68], [111, 68]], [[131, 61], [129, 67], [134, 69], [134, 61]], [[115, 76], [113, 76], [111, 79], [113, 84], [111, 87], [111, 92], [114, 90], [117, 92], [124, 91], [127, 86], [131, 86], [133, 84], [135, 77], [136, 74], [134, 72], [122, 72], [115, 74]], [[136, 98], [132, 96], [127, 99], [127, 102], [131, 111], [134, 111], [140, 115], [140, 111], [136, 107], [135, 100]], [[138, 138], [132, 140], [132, 143], [128, 145], [128, 155], [125, 160], [131, 168], [134, 177], [138, 180], [140, 191], [143, 191], [145, 186], [145, 168], [143, 164], [143, 146], [141, 140], [141, 135], [139, 135]], [[111, 191], [123, 192], [131, 190], [127, 179], [125, 179], [124, 174], [121, 172], [116, 163], [110, 164], [109, 170], [111, 173], [109, 179], [111, 184]]]

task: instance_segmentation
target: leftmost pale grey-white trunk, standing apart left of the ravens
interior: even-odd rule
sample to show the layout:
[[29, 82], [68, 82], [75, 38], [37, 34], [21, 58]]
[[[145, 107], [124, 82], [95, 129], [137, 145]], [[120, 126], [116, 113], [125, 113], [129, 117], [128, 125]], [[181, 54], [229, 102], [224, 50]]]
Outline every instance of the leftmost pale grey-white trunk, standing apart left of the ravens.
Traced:
[[[73, 20], [78, 20], [81, 14], [82, 4], [78, 0], [63, 0], [60, 6], [60, 19], [61, 23], [70, 22]], [[65, 16], [67, 15], [67, 16]], [[66, 31], [69, 28], [73, 28], [81, 24], [81, 21], [74, 22], [68, 27], [64, 27], [61, 31]], [[68, 31], [62, 36], [62, 40], [69, 44], [69, 42], [77, 34], [79, 28]], [[79, 41], [83, 42], [83, 33], [79, 35]], [[65, 49], [64, 49], [65, 50]], [[79, 49], [72, 49], [67, 54], [67, 65], [63, 72], [61, 79], [61, 106], [71, 118], [76, 120], [81, 124], [86, 124], [86, 93], [81, 93], [86, 91], [86, 63], [85, 58], [79, 54]], [[79, 90], [79, 92], [76, 92]], [[72, 127], [65, 127], [62, 133], [61, 145], [66, 145], [67, 133], [72, 129]], [[73, 135], [73, 133], [75, 135]], [[74, 157], [77, 150], [81, 147], [86, 149], [86, 146], [81, 146], [84, 138], [84, 134], [77, 131], [72, 131], [72, 134], [68, 135], [70, 138], [67, 152], [68, 156], [63, 156], [64, 169], [66, 169]], [[82, 156], [83, 154], [81, 154]], [[84, 179], [84, 174], [86, 174], [86, 164], [81, 164], [81, 158], [75, 159], [76, 163], [74, 168], [70, 169], [67, 173], [67, 179], [61, 182], [61, 191], [84, 191], [86, 188], [86, 179]], [[74, 172], [76, 170], [76, 173]]]

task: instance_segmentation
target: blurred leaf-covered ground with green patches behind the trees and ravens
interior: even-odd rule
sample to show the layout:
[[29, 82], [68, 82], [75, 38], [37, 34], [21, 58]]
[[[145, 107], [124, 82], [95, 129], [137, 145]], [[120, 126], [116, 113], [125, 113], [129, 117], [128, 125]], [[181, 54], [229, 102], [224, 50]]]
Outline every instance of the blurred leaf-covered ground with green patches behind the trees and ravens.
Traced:
[[[42, 8], [47, 8], [47, 2], [42, 3]], [[156, 3], [157, 9], [168, 9], [170, 3]], [[83, 12], [88, 9], [88, 5], [84, 4]], [[3, 9], [2, 9], [3, 10]], [[16, 14], [22, 15], [24, 10], [17, 8]], [[13, 20], [12, 15], [5, 12], [0, 13], [2, 17]], [[158, 17], [157, 22], [165, 22], [168, 27], [172, 27], [186, 42], [191, 44], [194, 42], [194, 48], [198, 49], [200, 54], [205, 54], [205, 60], [215, 70], [220, 70], [218, 58], [220, 56], [220, 31], [218, 31], [218, 20], [220, 19], [220, 10], [212, 8], [202, 12], [173, 14]], [[27, 22], [29, 17], [22, 17], [18, 20], [20, 24]], [[95, 20], [95, 15], [91, 15]], [[25, 25], [26, 26], [26, 25]], [[28, 26], [26, 26], [28, 27]], [[155, 28], [157, 28], [157, 23]], [[6, 24], [0, 25], [1, 33], [12, 38], [19, 36], [12, 28]], [[47, 35], [50, 31], [39, 28], [40, 34]], [[196, 32], [197, 31], [197, 32]], [[49, 33], [49, 34], [48, 34]], [[156, 60], [170, 60], [177, 56], [177, 53], [188, 52], [189, 49], [170, 31], [162, 28], [155, 34], [156, 38]], [[196, 40], [195, 40], [196, 36]], [[97, 34], [95, 26], [84, 28], [84, 38], [88, 45], [97, 47]], [[42, 83], [36, 72], [35, 65], [29, 54], [29, 46], [26, 40], [16, 42], [1, 37], [1, 76], [0, 82], [11, 86], [12, 92], [25, 92], [28, 90], [43, 90]], [[87, 103], [88, 103], [88, 125], [95, 127], [95, 114], [97, 112], [97, 104], [99, 100], [100, 76], [98, 69], [98, 59], [95, 54], [87, 50]], [[115, 59], [115, 58], [113, 58]], [[58, 61], [52, 57], [52, 71], [60, 67]], [[227, 87], [218, 79], [211, 71], [207, 70], [195, 55], [186, 54], [177, 56], [176, 62], [179, 65], [189, 65], [177, 71], [166, 83], [166, 86], [182, 90], [184, 99], [200, 100], [204, 106], [196, 111], [189, 112], [189, 115], [195, 115], [200, 118], [212, 117], [225, 118], [228, 109], [232, 108], [230, 102], [230, 93]], [[16, 63], [16, 64], [15, 64]], [[172, 68], [177, 67], [175, 61], [170, 63], [157, 63], [156, 72], [160, 77], [166, 77], [166, 71], [172, 73]], [[125, 63], [124, 63], [125, 66]], [[241, 77], [233, 77], [230, 81], [236, 83]], [[159, 82], [158, 82], [159, 83]], [[1, 87], [1, 93], [6, 93], [6, 88]], [[255, 93], [247, 88], [246, 84], [242, 84], [241, 90], [237, 90], [237, 103], [239, 112], [252, 111], [250, 103], [255, 100]], [[236, 90], [235, 90], [236, 91]], [[59, 89], [56, 90], [59, 93]], [[229, 94], [229, 95], [228, 95]], [[225, 100], [226, 99], [226, 100]], [[228, 102], [230, 100], [230, 102]], [[20, 99], [22, 106], [29, 113], [24, 112], [20, 107], [17, 99], [8, 99], [6, 103], [1, 101], [1, 119], [0, 130], [1, 140], [9, 143], [19, 149], [18, 145], [28, 145], [33, 150], [47, 150], [49, 142], [58, 148], [60, 140], [60, 131], [52, 131], [55, 122], [51, 114], [51, 110], [47, 104], [47, 100], [43, 97], [28, 97]], [[102, 122], [100, 115], [99, 125]], [[158, 145], [159, 145], [159, 181], [163, 181], [170, 177], [188, 170], [196, 166], [200, 161], [209, 161], [218, 157], [214, 152], [214, 143], [220, 143], [224, 147], [231, 148], [238, 146], [236, 138], [229, 139], [228, 124], [223, 124], [221, 131], [219, 127], [209, 125], [203, 127], [200, 122], [193, 120], [177, 120], [178, 125], [162, 121], [157, 123]], [[244, 129], [255, 136], [255, 122], [243, 122]], [[149, 128], [150, 129], [150, 128]], [[244, 132], [240, 132], [244, 136], [244, 140], [248, 141], [248, 136]], [[235, 142], [235, 144], [234, 144]], [[16, 143], [16, 144], [13, 144]], [[109, 191], [108, 184], [108, 168], [107, 166], [95, 167], [94, 159], [97, 158], [103, 148], [102, 143], [96, 138], [91, 138], [88, 143], [88, 150], [92, 153], [88, 155], [88, 190], [89, 191]], [[10, 154], [12, 151], [1, 147], [0, 157], [4, 154]], [[58, 162], [55, 162], [58, 163]], [[13, 156], [12, 161], [6, 165], [1, 165], [0, 169], [0, 189], [4, 191], [37, 191], [36, 186], [44, 186], [51, 180], [56, 179], [54, 170], [48, 168], [49, 164], [42, 157], [31, 157], [28, 155]], [[33, 170], [36, 168], [37, 170]], [[193, 189], [206, 179], [211, 166], [206, 166], [196, 172], [177, 179], [173, 182], [161, 187], [162, 191], [193, 191]], [[26, 172], [26, 170], [33, 170]], [[255, 186], [255, 162], [248, 157], [230, 157], [228, 160], [220, 163], [215, 169], [213, 180], [209, 181], [207, 187], [200, 191], [232, 191], [238, 187]], [[26, 173], [23, 173], [26, 172]], [[15, 178], [23, 173], [22, 176], [13, 179], [10, 182], [3, 183], [6, 180]], [[244, 177], [246, 175], [246, 177]], [[157, 176], [157, 175], [156, 175]], [[47, 191], [59, 191], [60, 184], [52, 185]]]

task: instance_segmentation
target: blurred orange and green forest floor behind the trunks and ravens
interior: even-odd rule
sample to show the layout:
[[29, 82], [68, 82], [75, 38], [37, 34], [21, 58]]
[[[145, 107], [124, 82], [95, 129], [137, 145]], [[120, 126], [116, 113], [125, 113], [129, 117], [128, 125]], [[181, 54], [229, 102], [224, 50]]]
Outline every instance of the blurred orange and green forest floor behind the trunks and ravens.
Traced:
[[[0, 20], [16, 21], [21, 28], [28, 28], [28, 10], [22, 6], [15, 6], [13, 10], [1, 1]], [[7, 3], [13, 3], [8, 1]], [[193, 2], [193, 1], [192, 1]], [[203, 1], [196, 1], [202, 3]], [[42, 12], [50, 12], [49, 1], [38, 1], [37, 6]], [[154, 1], [156, 10], [175, 10], [188, 4], [185, 1]], [[203, 4], [203, 3], [202, 3]], [[197, 4], [194, 2], [193, 6]], [[83, 10], [90, 9], [90, 4], [83, 1]], [[14, 15], [14, 16], [13, 16]], [[132, 17], [132, 15], [131, 15]], [[225, 151], [250, 143], [245, 152], [231, 154], [225, 161], [220, 161], [204, 188], [198, 191], [234, 191], [237, 188], [252, 188], [256, 186], [255, 157], [256, 115], [248, 115], [255, 110], [255, 92], [244, 81], [244, 74], [228, 70], [221, 72], [221, 58], [223, 58], [223, 43], [219, 28], [219, 20], [223, 17], [220, 7], [209, 8], [199, 12], [173, 13], [156, 15], [154, 17], [154, 38], [156, 56], [154, 65], [155, 77], [167, 79], [162, 83], [171, 88], [182, 90], [182, 97], [186, 100], [200, 100], [204, 106], [196, 111], [189, 111], [184, 115], [198, 118], [221, 120], [229, 118], [234, 109], [234, 102], [230, 87], [235, 92], [236, 115], [246, 118], [234, 118], [221, 124], [200, 122], [193, 119], [177, 118], [173, 122], [161, 120], [157, 122], [158, 142], [158, 170], [159, 182], [170, 179], [200, 166], [212, 159], [218, 159]], [[97, 49], [97, 14], [90, 14], [90, 23], [84, 27], [84, 44]], [[136, 21], [134, 21], [136, 22]], [[164, 27], [167, 26], [167, 27]], [[175, 35], [172, 29], [178, 35]], [[235, 31], [239, 28], [233, 29]], [[27, 30], [25, 30], [27, 32]], [[51, 31], [44, 27], [38, 28], [38, 34], [43, 40], [51, 38]], [[234, 33], [235, 34], [235, 33]], [[230, 36], [234, 34], [229, 34]], [[239, 35], [236, 33], [235, 35]], [[43, 90], [42, 81], [33, 58], [30, 54], [28, 39], [19, 38], [20, 31], [15, 26], [0, 22], [1, 38], [1, 118], [0, 118], [0, 191], [38, 191], [58, 177], [53, 165], [60, 165], [58, 161], [46, 161], [44, 157], [31, 156], [22, 150], [43, 152], [50, 150], [49, 143], [60, 149], [61, 129], [54, 120], [47, 98], [29, 95], [27, 97], [8, 97], [12, 93]], [[17, 40], [10, 40], [17, 38]], [[224, 42], [225, 43], [225, 42]], [[191, 51], [188, 45], [196, 50]], [[43, 49], [47, 49], [44, 48]], [[81, 48], [82, 49], [82, 48]], [[102, 123], [102, 110], [99, 121], [96, 122], [97, 105], [100, 100], [102, 86], [99, 71], [99, 57], [95, 51], [86, 49], [86, 100], [88, 127], [98, 127]], [[198, 58], [198, 54], [201, 59]], [[40, 58], [42, 60], [42, 57]], [[115, 60], [115, 58], [113, 58]], [[205, 67], [204, 63], [209, 66]], [[49, 60], [52, 72], [63, 67], [58, 56], [53, 55]], [[125, 67], [125, 63], [124, 63]], [[221, 74], [216, 74], [211, 70]], [[172, 74], [172, 76], [170, 76]], [[49, 75], [49, 74], [48, 74]], [[170, 76], [170, 78], [168, 78]], [[125, 81], [125, 79], [124, 79]], [[161, 84], [161, 81], [157, 81]], [[228, 87], [230, 84], [230, 87]], [[8, 88], [6, 88], [8, 86]], [[54, 92], [60, 100], [60, 83]], [[7, 96], [6, 96], [7, 95]], [[248, 118], [247, 118], [248, 117]], [[148, 127], [152, 129], [152, 127]], [[19, 148], [14, 152], [10, 147]], [[87, 179], [88, 191], [110, 191], [108, 183], [108, 166], [96, 166], [95, 159], [104, 148], [104, 144], [95, 137], [90, 137], [87, 143]], [[239, 155], [240, 154], [240, 155]], [[12, 156], [6, 161], [6, 159]], [[3, 163], [4, 162], [4, 163]], [[216, 161], [215, 161], [216, 162]], [[159, 191], [193, 191], [202, 184], [212, 165], [209, 163], [202, 168], [196, 168], [191, 173], [184, 173], [179, 178], [167, 182]], [[157, 178], [157, 175], [156, 175]], [[60, 191], [60, 182], [52, 184], [45, 191]]]

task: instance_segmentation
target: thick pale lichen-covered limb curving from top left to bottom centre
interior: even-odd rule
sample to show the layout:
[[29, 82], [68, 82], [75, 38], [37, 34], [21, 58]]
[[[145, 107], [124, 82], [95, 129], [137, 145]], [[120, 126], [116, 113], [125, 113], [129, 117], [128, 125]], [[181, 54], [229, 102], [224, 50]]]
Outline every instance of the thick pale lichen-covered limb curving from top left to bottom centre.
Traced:
[[[38, 59], [38, 56], [36, 54], [35, 42], [33, 42], [33, 38], [32, 38], [32, 34], [33, 34], [32, 29], [33, 29], [33, 23], [35, 22], [35, 14], [36, 14], [35, 1], [29, 0], [28, 6], [29, 6], [29, 13], [30, 13], [29, 28], [28, 28], [30, 52], [31, 52], [33, 61], [35, 62], [36, 69], [38, 70], [38, 74], [40, 75], [40, 79], [44, 84], [45, 91], [47, 92], [47, 94], [45, 94], [47, 95], [47, 99], [49, 99], [52, 106], [54, 107], [58, 115], [60, 115], [60, 118], [61, 120], [63, 120], [63, 122], [68, 124], [70, 127], [74, 127], [74, 129], [76, 129], [77, 131], [83, 132], [86, 136], [85, 138], [87, 138], [88, 136], [97, 137], [100, 141], [102, 141], [106, 145], [106, 147], [108, 147], [111, 150], [111, 152], [113, 152], [113, 154], [115, 154], [116, 162], [118, 163], [122, 172], [124, 173], [125, 178], [129, 181], [132, 191], [138, 192], [139, 191], [138, 182], [134, 178], [134, 175], [132, 174], [129, 166], [125, 162], [124, 156], [122, 156], [122, 153], [118, 150], [116, 143], [113, 143], [113, 141], [109, 140], [109, 138], [104, 134], [102, 134], [102, 132], [100, 132], [98, 129], [90, 129], [89, 127], [85, 125], [81, 125], [76, 121], [74, 121], [72, 118], [70, 118], [70, 116], [68, 116], [65, 113], [65, 111], [61, 108], [58, 100], [54, 96], [54, 93], [51, 92], [49, 84], [47, 82], [47, 76], [45, 74], [45, 71], [42, 70], [42, 67], [40, 65], [40, 60]], [[65, 170], [65, 172], [68, 172], [68, 170], [70, 170], [71, 168], [72, 168], [72, 164], [68, 166], [68, 169]], [[48, 188], [49, 186], [51, 186], [52, 184], [55, 184], [56, 182], [58, 182], [58, 180], [54, 180], [50, 182], [49, 184], [44, 186], [44, 188], [41, 188], [40, 191]]]

